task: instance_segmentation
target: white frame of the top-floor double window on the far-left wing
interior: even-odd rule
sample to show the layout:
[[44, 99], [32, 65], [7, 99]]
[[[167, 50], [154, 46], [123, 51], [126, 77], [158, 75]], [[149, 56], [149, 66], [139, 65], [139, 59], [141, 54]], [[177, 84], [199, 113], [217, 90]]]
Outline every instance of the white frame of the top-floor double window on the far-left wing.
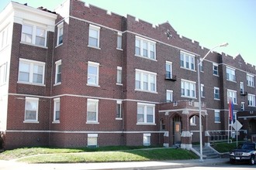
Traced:
[[[26, 42], [26, 41], [22, 40], [22, 39], [24, 39], [24, 35], [26, 34], [26, 33], [23, 33], [24, 32], [24, 30], [23, 30], [24, 27], [23, 26], [32, 27], [31, 42]], [[41, 36], [44, 39], [43, 45], [36, 44], [36, 31], [37, 31], [37, 29], [43, 29], [44, 30], [44, 36]], [[33, 46], [47, 47], [47, 26], [39, 25], [39, 24], [33, 23], [33, 22], [23, 22], [22, 23], [21, 42], [25, 43], [25, 44], [33, 45]]]

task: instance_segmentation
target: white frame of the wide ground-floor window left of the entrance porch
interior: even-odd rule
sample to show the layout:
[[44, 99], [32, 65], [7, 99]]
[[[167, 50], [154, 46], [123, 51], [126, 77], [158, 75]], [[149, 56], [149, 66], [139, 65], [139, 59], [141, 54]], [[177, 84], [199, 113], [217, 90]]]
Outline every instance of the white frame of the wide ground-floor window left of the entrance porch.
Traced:
[[[137, 103], [137, 116], [138, 116], [138, 108], [143, 107], [143, 121], [138, 121], [137, 117], [137, 125], [156, 125], [155, 124], [155, 104], [145, 104], [145, 103]], [[147, 107], [152, 107], [153, 110], [153, 122], [147, 122]]]

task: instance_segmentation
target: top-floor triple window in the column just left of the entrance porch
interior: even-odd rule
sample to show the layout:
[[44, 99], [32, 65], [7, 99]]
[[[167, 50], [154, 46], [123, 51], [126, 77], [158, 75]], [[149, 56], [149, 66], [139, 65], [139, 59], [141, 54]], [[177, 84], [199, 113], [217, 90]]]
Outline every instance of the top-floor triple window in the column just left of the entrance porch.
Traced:
[[136, 36], [135, 55], [149, 59], [156, 59], [156, 42]]

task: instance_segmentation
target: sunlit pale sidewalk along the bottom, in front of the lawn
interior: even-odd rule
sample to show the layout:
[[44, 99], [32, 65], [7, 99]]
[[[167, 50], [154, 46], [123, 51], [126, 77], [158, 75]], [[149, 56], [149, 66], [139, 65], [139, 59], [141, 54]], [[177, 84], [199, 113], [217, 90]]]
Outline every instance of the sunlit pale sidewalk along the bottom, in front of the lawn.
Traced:
[[26, 164], [0, 160], [1, 170], [85, 170], [85, 169], [162, 169], [185, 168], [192, 166], [221, 165], [229, 161], [228, 158], [163, 161], [163, 162], [107, 162], [107, 163], [74, 163], [74, 164]]

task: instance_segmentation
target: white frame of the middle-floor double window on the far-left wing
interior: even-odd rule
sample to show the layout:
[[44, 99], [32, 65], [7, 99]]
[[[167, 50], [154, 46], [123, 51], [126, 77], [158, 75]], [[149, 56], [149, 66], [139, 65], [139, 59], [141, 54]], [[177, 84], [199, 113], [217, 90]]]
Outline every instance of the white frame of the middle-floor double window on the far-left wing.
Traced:
[[[22, 81], [20, 80], [20, 64], [24, 63], [24, 64], [28, 64], [29, 65], [29, 81]], [[33, 67], [34, 66], [43, 66], [43, 75], [42, 75], [42, 83], [34, 83], [33, 82]], [[33, 84], [33, 85], [40, 85], [40, 86], [44, 86], [44, 75], [45, 74], [45, 63], [44, 62], [40, 62], [40, 61], [35, 61], [35, 60], [31, 60], [31, 59], [19, 59], [19, 77], [18, 77], [18, 83], [27, 83], [27, 84]]]

